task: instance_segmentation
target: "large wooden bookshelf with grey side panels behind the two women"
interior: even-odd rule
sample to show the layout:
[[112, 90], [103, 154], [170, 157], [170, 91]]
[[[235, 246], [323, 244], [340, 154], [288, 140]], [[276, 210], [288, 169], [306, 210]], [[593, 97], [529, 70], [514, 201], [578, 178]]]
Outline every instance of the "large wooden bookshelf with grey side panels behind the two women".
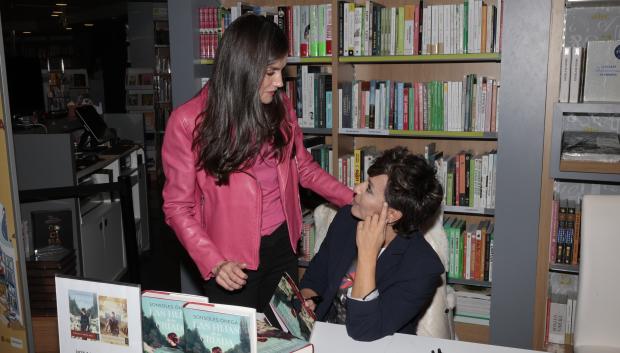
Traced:
[[[253, 5], [274, 5], [252, 1]], [[283, 0], [281, 6], [331, 3], [332, 44], [337, 48], [337, 1]], [[402, 6], [409, 2], [388, 0], [385, 6]], [[424, 4], [454, 4], [462, 1], [425, 1]], [[225, 1], [223, 6], [235, 5]], [[359, 1], [359, 5], [364, 2]], [[334, 97], [333, 128], [321, 130], [333, 148], [332, 163], [356, 147], [374, 145], [379, 150], [406, 145], [422, 153], [429, 142], [437, 150], [454, 154], [463, 149], [474, 153], [497, 149], [497, 190], [494, 209], [450, 209], [446, 213], [468, 219], [494, 219], [496, 262], [493, 269], [490, 326], [462, 325], [471, 340], [516, 347], [531, 347], [534, 329], [534, 294], [536, 293], [535, 249], [538, 247], [538, 223], [546, 104], [546, 75], [550, 4], [535, 0], [503, 2], [501, 54], [424, 55], [341, 57], [333, 50], [331, 57], [291, 58], [289, 66], [328, 66], [333, 78], [333, 92], [339, 84], [352, 80], [461, 80], [469, 73], [501, 79], [498, 114], [501, 126], [497, 133], [438, 131], [368, 131], [340, 129], [336, 117], [338, 98]], [[197, 47], [198, 8], [219, 6], [216, 1], [186, 0], [170, 2], [170, 48], [172, 57], [173, 106], [190, 99], [200, 88], [200, 78], [210, 75], [210, 60], [199, 59]], [[528, 28], [528, 31], [523, 31]], [[532, 45], [536, 43], [536, 45]], [[527, 53], [528, 55], [523, 55]], [[527, 87], [527, 89], [524, 89]], [[317, 133], [304, 129], [305, 133]], [[524, 188], [524, 185], [527, 188]], [[515, 217], [518, 211], [519, 216]], [[518, 266], [516, 264], [519, 264]], [[470, 283], [466, 283], [467, 285]], [[473, 283], [486, 287], [484, 283]]]

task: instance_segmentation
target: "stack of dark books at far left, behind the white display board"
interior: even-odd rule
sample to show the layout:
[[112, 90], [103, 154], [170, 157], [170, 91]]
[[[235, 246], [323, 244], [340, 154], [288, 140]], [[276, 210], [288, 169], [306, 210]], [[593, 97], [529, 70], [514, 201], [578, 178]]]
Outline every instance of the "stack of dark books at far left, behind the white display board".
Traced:
[[30, 310], [33, 315], [56, 315], [56, 274], [75, 275], [75, 251], [61, 248], [58, 252], [33, 256], [26, 261]]

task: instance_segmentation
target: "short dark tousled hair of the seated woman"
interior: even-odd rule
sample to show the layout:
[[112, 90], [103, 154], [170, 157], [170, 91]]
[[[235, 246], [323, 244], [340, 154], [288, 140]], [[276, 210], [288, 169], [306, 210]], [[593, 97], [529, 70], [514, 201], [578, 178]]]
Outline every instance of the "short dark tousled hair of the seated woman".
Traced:
[[422, 156], [406, 147], [394, 147], [379, 156], [368, 168], [369, 176], [386, 174], [385, 201], [402, 212], [394, 223], [400, 235], [408, 235], [428, 226], [441, 207], [443, 188], [436, 170]]

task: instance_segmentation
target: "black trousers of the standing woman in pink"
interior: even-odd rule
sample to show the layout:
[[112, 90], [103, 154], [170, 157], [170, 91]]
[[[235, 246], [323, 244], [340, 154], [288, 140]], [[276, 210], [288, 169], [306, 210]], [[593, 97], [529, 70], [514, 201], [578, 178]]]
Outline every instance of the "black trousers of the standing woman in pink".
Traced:
[[297, 257], [291, 248], [286, 222], [270, 235], [261, 237], [258, 269], [245, 272], [248, 279], [243, 288], [228, 291], [211, 279], [205, 282], [205, 295], [212, 303], [255, 308], [258, 312], [264, 312], [272, 324], [277, 324], [272, 320], [271, 310], [267, 309], [280, 278], [287, 272], [295, 283], [299, 283]]

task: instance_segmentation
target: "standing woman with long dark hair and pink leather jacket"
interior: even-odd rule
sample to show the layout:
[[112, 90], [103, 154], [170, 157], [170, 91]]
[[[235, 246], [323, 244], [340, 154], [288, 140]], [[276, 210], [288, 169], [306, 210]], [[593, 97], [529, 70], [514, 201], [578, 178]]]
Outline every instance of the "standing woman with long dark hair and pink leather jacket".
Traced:
[[277, 25], [239, 17], [222, 37], [211, 80], [166, 127], [166, 222], [215, 303], [262, 311], [284, 272], [296, 279], [300, 184], [339, 206], [353, 198], [303, 146], [279, 89], [287, 54]]

